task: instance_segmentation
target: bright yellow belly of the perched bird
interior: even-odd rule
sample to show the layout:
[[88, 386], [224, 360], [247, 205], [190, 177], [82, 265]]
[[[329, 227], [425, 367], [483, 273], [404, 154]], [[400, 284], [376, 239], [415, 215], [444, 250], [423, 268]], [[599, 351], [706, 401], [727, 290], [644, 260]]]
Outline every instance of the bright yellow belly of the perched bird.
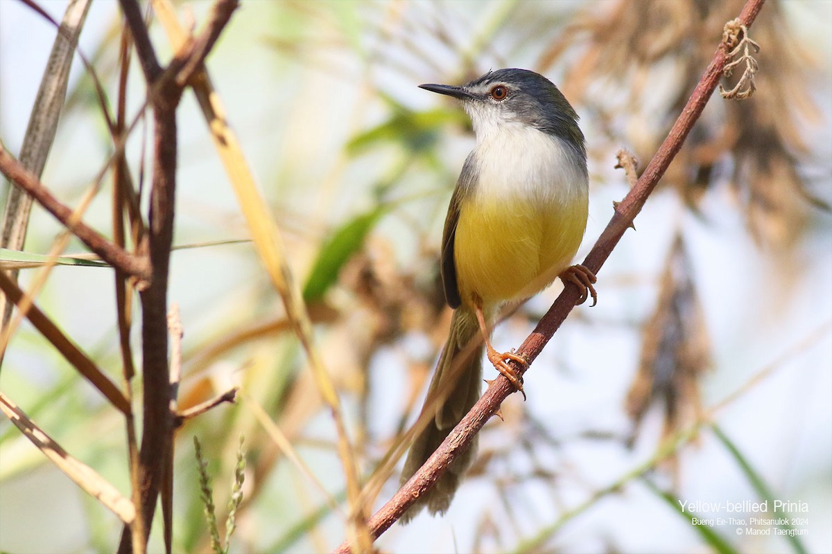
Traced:
[[569, 203], [483, 202], [460, 207], [454, 240], [463, 304], [483, 306], [527, 297], [572, 262], [587, 226], [587, 197]]

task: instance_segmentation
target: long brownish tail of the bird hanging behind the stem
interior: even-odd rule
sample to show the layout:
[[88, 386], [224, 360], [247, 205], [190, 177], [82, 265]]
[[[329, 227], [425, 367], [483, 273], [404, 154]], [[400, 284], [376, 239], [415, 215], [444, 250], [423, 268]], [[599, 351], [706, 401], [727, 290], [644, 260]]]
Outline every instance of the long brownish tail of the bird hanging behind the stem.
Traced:
[[[453, 312], [448, 342], [439, 356], [422, 408], [423, 412], [433, 409], [433, 419], [410, 447], [402, 471], [402, 484], [413, 477], [479, 399], [483, 346], [475, 349], [468, 347], [468, 343], [478, 334], [479, 327], [473, 313], [464, 308]], [[445, 512], [476, 452], [475, 438], [468, 450], [458, 455], [433, 488], [409, 508], [402, 517], [402, 522], [409, 522], [425, 506], [434, 514]]]

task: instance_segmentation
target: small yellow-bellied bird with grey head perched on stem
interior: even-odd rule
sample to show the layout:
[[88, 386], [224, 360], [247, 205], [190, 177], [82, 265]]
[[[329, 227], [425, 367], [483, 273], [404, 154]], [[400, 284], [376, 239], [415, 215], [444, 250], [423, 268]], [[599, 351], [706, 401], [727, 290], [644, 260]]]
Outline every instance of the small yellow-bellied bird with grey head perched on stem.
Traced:
[[[571, 265], [587, 227], [587, 150], [578, 115], [557, 86], [535, 71], [508, 68], [463, 86], [419, 87], [461, 101], [476, 144], [443, 228], [440, 270], [445, 300], [454, 310], [448, 340], [422, 409], [430, 420], [410, 446], [401, 484], [477, 402], [483, 346], [495, 369], [523, 390], [508, 362], [527, 366], [527, 361], [513, 351], [498, 352], [491, 343], [501, 306], [533, 296], [557, 277], [579, 287], [577, 303], [597, 300], [595, 275]], [[468, 346], [474, 343], [478, 346]], [[423, 507], [434, 515], [446, 512], [475, 452], [476, 438], [402, 521]]]

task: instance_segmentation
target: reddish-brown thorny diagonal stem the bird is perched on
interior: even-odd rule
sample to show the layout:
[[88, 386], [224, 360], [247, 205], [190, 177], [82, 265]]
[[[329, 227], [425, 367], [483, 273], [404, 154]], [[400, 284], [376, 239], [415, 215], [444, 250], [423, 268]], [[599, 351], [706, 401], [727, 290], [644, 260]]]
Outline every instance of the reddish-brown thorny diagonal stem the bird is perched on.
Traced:
[[[745, 2], [745, 6], [740, 12], [740, 22], [745, 27], [750, 27], [751, 23], [754, 22], [763, 2], [764, 0], [748, 0]], [[583, 265], [592, 272], [597, 273], [601, 269], [626, 229], [631, 227], [633, 219], [641, 211], [641, 207], [644, 206], [652, 190], [656, 188], [656, 184], [665, 173], [671, 160], [681, 149], [687, 134], [701, 115], [711, 94], [716, 90], [716, 86], [723, 75], [723, 70], [730, 60], [730, 50], [731, 48], [725, 42], [722, 42], [717, 48], [716, 54], [711, 60], [711, 65], [708, 66], [705, 74], [701, 77], [699, 84], [694, 89], [667, 138], [651, 159], [650, 164], [647, 164], [644, 173], [641, 174], [641, 179], [626, 195], [622, 203], [619, 203], [615, 208], [610, 223], [607, 224], [607, 228], [601, 233], [601, 237], [598, 238], [595, 246], [583, 262]], [[552, 338], [554, 332], [557, 331], [557, 328], [561, 326], [569, 312], [572, 311], [580, 295], [581, 292], [578, 287], [574, 285], [564, 287], [563, 292], [537, 324], [532, 334], [522, 343], [522, 346], [518, 349], [518, 354], [524, 356], [529, 363], [537, 358], [543, 346]], [[519, 375], [522, 375], [526, 369], [518, 364], [514, 364], [513, 367]], [[474, 435], [498, 411], [503, 400], [514, 391], [513, 386], [505, 377], [499, 376], [498, 379], [493, 380], [483, 397], [478, 400], [477, 404], [474, 404], [471, 411], [453, 429], [436, 452], [428, 458], [422, 468], [402, 488], [399, 488], [399, 491], [394, 494], [394, 497], [388, 503], [384, 504], [370, 518], [369, 530], [374, 538], [378, 538], [381, 533], [399, 520], [399, 517], [402, 517], [416, 499], [433, 486], [433, 483], [444, 473], [444, 470], [453, 462], [458, 453], [468, 449], [468, 444], [470, 444]], [[344, 542], [334, 552], [341, 554], [350, 552], [349, 544]]]

